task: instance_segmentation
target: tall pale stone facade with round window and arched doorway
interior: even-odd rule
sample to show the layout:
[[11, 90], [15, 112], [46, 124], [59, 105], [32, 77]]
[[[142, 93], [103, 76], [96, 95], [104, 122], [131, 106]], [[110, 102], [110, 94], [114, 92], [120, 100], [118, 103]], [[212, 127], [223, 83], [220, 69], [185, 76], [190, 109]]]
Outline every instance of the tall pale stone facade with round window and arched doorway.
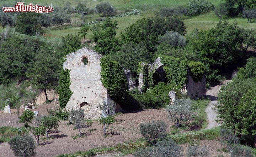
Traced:
[[[66, 56], [63, 69], [70, 70], [70, 97], [65, 109], [83, 109], [87, 119], [97, 119], [102, 116], [99, 104], [110, 101], [107, 89], [101, 82], [101, 55], [87, 48], [82, 48]], [[87, 58], [88, 63], [83, 63]]]

